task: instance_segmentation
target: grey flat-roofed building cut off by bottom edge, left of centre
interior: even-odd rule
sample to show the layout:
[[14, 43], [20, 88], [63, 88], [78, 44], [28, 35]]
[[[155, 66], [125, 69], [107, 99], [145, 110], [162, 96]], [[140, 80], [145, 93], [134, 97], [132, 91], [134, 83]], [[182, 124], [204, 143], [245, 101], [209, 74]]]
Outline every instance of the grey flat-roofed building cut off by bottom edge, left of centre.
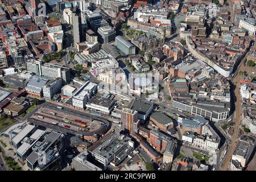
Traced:
[[102, 171], [101, 168], [86, 160], [87, 155], [88, 152], [82, 152], [72, 159], [72, 166], [75, 171]]

